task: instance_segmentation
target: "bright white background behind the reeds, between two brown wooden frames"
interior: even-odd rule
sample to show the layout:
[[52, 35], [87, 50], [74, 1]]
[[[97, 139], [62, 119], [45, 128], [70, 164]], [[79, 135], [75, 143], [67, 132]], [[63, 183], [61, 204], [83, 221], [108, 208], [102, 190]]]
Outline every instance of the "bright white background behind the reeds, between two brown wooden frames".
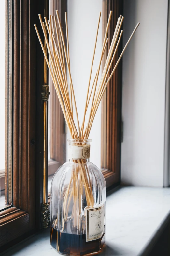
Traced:
[[[85, 108], [99, 12], [102, 11], [102, 0], [68, 0], [67, 4], [70, 67], [79, 122], [81, 124]], [[100, 23], [91, 81], [93, 81], [95, 76], [102, 50], [102, 18]], [[88, 116], [89, 111], [87, 113], [87, 117]], [[92, 139], [91, 162], [100, 168], [101, 106], [99, 106], [96, 113], [89, 138]]]

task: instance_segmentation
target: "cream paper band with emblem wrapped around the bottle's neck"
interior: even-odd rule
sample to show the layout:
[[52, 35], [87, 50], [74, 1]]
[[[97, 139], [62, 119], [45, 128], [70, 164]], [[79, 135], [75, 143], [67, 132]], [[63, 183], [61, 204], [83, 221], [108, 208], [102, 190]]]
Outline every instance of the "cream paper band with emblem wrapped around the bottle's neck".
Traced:
[[90, 145], [85, 146], [72, 146], [68, 147], [69, 159], [86, 159], [90, 158]]

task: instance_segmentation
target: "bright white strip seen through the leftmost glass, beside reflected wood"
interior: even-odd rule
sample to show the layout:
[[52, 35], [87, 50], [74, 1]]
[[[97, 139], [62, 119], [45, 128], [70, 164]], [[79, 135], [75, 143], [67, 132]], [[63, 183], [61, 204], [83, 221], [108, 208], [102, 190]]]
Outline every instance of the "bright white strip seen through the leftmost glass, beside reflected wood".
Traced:
[[1, 24], [1, 47], [0, 47], [0, 77], [1, 77], [1, 100], [0, 100], [0, 170], [5, 169], [5, 1], [0, 8]]

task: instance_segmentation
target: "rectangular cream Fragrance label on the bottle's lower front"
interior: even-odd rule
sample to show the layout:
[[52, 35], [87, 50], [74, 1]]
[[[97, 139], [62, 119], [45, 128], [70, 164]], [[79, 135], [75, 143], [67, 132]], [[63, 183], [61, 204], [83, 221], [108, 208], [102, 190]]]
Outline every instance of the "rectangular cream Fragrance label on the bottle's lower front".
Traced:
[[105, 204], [86, 209], [86, 242], [101, 238], [105, 232]]

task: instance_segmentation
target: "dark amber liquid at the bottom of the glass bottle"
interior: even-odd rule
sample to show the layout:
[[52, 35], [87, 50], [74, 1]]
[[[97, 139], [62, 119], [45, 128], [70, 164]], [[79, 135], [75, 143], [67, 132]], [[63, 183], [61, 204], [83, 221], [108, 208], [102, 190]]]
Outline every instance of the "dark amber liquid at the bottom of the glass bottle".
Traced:
[[99, 239], [86, 242], [86, 234], [74, 235], [61, 233], [50, 227], [50, 244], [54, 249], [64, 255], [83, 256], [91, 253], [97, 253], [101, 250], [105, 234]]

